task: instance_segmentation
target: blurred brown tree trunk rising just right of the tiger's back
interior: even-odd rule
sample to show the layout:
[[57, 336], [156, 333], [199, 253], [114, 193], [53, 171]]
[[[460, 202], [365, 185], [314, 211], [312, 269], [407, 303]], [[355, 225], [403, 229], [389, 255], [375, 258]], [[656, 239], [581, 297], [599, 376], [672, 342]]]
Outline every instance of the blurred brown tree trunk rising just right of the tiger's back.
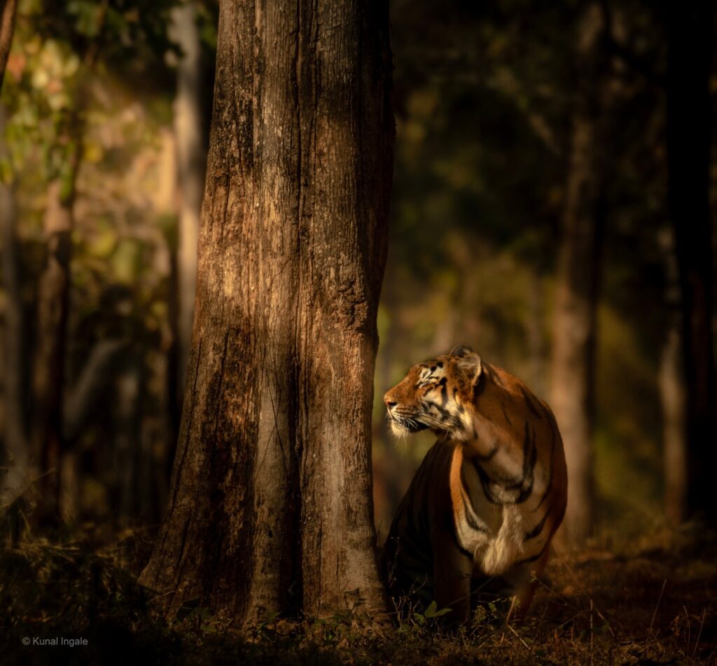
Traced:
[[598, 126], [603, 30], [599, 5], [591, 4], [577, 35], [577, 67], [584, 89], [574, 102], [554, 315], [551, 405], [568, 466], [564, 530], [575, 544], [592, 534], [594, 523], [595, 348], [604, 217], [604, 137]]

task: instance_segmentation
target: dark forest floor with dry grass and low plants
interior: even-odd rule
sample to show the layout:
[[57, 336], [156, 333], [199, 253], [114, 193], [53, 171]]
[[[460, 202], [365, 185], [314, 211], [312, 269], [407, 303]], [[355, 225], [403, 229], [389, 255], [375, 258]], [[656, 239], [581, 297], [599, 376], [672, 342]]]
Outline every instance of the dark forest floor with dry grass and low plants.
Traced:
[[554, 554], [524, 624], [506, 626], [484, 609], [452, 632], [420, 614], [379, 629], [358, 612], [267, 617], [244, 632], [209, 609], [166, 621], [136, 583], [150, 547], [143, 531], [110, 539], [89, 528], [3, 546], [0, 663], [717, 664], [717, 539], [694, 527], [627, 541], [603, 535]]

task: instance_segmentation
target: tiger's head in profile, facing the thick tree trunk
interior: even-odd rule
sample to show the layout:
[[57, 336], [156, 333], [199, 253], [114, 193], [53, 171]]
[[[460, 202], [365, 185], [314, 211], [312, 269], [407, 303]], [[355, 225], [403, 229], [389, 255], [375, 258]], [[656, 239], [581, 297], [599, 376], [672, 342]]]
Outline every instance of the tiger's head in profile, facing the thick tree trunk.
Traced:
[[440, 437], [462, 441], [475, 437], [474, 395], [482, 375], [480, 356], [465, 345], [414, 365], [384, 395], [391, 430], [405, 435], [429, 429]]

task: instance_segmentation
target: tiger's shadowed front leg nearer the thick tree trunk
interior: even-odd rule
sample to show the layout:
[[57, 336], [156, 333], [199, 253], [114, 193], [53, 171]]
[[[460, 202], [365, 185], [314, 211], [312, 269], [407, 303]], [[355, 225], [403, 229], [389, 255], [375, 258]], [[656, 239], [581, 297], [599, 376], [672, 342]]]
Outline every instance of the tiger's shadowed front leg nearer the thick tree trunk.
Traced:
[[473, 559], [458, 549], [455, 540], [455, 534], [446, 530], [433, 535], [434, 594], [439, 609], [451, 609], [447, 619], [464, 623], [470, 619]]

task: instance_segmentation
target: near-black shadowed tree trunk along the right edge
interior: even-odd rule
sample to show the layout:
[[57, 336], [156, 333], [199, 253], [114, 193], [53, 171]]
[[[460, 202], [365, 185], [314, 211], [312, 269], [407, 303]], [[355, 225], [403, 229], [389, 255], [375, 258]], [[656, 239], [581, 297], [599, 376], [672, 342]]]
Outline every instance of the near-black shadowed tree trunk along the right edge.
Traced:
[[668, 208], [675, 229], [687, 390], [688, 516], [714, 519], [717, 463], [709, 202], [714, 11], [668, 2]]

